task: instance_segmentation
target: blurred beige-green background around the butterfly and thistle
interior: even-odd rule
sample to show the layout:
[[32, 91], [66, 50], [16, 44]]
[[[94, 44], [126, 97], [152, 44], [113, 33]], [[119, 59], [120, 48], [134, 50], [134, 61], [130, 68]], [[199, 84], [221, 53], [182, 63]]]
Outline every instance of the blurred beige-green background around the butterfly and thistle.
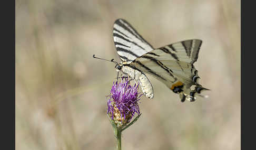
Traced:
[[114, 149], [106, 116], [124, 18], [155, 48], [202, 39], [208, 99], [180, 102], [149, 77], [154, 99], [122, 135], [123, 149], [241, 149], [240, 1], [16, 0], [16, 149]]

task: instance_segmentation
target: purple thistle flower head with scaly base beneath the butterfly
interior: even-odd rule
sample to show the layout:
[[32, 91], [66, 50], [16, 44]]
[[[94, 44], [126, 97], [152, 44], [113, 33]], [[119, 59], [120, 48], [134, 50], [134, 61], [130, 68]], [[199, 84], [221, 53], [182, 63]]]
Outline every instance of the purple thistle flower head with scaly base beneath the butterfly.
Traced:
[[121, 83], [113, 82], [107, 113], [117, 126], [129, 123], [135, 113], [140, 114], [138, 102], [143, 94], [138, 92], [138, 88], [139, 84], [132, 86], [127, 79], [122, 79]]

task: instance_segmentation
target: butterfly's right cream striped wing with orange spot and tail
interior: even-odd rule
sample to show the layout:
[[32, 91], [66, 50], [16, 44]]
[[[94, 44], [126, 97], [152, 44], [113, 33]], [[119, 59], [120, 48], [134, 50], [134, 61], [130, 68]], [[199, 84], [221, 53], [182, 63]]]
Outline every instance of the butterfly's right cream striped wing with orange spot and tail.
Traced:
[[[201, 44], [202, 41], [196, 39], [176, 42], [145, 53], [130, 66], [151, 74], [174, 92], [175, 88], [180, 88], [178, 91], [183, 94], [182, 101], [185, 98], [194, 101], [194, 94], [205, 89], [198, 83], [198, 71], [193, 66]], [[193, 90], [192, 85], [195, 85]]]

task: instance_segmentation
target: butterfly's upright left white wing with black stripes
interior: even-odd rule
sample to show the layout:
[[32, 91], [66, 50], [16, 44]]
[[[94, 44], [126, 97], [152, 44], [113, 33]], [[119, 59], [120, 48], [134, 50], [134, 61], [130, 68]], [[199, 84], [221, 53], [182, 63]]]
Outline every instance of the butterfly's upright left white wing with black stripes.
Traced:
[[128, 63], [154, 49], [124, 19], [117, 19], [115, 21], [113, 37], [120, 59]]

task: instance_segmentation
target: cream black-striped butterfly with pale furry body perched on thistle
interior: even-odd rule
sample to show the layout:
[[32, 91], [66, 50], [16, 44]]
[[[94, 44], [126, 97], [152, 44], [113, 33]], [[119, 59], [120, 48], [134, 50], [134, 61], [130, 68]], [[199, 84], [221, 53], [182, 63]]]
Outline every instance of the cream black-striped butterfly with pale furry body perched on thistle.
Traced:
[[113, 37], [122, 60], [115, 66], [116, 70], [139, 83], [147, 98], [153, 99], [154, 91], [145, 73], [178, 93], [181, 102], [193, 102], [195, 94], [209, 90], [198, 83], [200, 77], [193, 65], [198, 59], [202, 40], [184, 40], [155, 49], [124, 19], [114, 22]]

